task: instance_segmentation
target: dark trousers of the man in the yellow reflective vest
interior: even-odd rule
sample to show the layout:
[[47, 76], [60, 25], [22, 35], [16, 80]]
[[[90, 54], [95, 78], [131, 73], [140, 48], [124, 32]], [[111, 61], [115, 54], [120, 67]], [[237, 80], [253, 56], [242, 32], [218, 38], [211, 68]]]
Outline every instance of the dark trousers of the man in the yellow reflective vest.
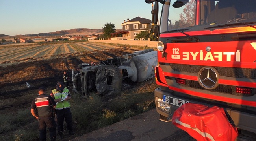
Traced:
[[71, 114], [70, 108], [63, 109], [63, 110], [56, 110], [56, 115], [57, 115], [58, 133], [63, 132], [64, 119], [67, 123], [67, 129], [72, 130], [72, 114]]

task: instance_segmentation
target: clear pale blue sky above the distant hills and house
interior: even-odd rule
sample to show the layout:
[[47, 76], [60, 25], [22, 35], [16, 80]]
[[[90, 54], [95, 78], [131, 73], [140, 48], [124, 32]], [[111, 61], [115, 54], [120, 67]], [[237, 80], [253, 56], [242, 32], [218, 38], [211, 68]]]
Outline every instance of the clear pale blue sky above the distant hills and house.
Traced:
[[74, 28], [102, 29], [135, 17], [152, 20], [145, 0], [0, 0], [0, 34], [25, 35]]

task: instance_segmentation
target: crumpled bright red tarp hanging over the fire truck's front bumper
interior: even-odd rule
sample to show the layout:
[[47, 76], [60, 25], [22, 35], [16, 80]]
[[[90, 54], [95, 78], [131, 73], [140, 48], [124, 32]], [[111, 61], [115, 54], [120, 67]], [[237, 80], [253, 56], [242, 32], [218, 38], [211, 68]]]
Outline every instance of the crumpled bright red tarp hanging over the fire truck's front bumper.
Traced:
[[173, 114], [172, 123], [198, 141], [234, 141], [237, 128], [221, 107], [186, 103]]

